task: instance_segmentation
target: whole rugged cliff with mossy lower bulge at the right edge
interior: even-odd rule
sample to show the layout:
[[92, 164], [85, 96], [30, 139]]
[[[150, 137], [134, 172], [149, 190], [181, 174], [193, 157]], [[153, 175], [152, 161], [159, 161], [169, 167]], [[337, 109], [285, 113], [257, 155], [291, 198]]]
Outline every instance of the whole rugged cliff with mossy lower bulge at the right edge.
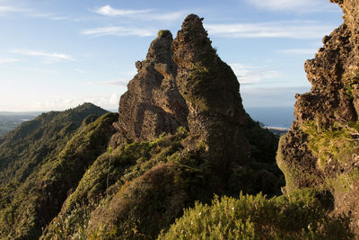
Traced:
[[[295, 121], [280, 141], [277, 164], [285, 173], [285, 191], [328, 188], [337, 212], [354, 208], [351, 213], [359, 218], [355, 200], [344, 197], [343, 201], [342, 196], [359, 194], [353, 187], [359, 149], [355, 127], [359, 114], [359, 2], [331, 2], [343, 9], [345, 22], [323, 38], [323, 48], [305, 63], [311, 92], [296, 95]], [[344, 193], [338, 186], [346, 185], [340, 182], [346, 178], [350, 183], [345, 188], [350, 191]]]

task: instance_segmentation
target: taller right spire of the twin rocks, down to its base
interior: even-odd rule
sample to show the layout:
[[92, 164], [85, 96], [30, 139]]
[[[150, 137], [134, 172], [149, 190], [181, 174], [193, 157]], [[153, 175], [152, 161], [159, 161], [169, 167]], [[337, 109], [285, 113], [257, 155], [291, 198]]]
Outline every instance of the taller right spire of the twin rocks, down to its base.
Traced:
[[[202, 144], [206, 158], [218, 170], [232, 159], [246, 163], [249, 144], [243, 136], [246, 113], [241, 104], [240, 84], [211, 46], [202, 20], [190, 14], [173, 40], [173, 59], [178, 65], [176, 83], [188, 105], [188, 148]], [[219, 160], [220, 159], [220, 160]]]

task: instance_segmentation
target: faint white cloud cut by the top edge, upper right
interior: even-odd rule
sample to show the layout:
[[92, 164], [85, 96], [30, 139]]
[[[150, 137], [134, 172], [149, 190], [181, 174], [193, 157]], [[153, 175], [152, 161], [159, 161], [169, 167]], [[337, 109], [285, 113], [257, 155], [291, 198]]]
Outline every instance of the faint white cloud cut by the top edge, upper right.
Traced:
[[269, 11], [291, 13], [326, 12], [335, 9], [334, 5], [328, 4], [328, 0], [247, 0], [247, 2]]

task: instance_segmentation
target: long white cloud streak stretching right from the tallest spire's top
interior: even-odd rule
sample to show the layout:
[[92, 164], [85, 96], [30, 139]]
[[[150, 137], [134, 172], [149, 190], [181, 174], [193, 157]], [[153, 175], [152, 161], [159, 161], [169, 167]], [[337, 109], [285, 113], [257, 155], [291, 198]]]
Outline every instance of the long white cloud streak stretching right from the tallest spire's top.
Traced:
[[206, 30], [226, 38], [320, 39], [335, 27], [318, 22], [253, 22], [206, 24]]

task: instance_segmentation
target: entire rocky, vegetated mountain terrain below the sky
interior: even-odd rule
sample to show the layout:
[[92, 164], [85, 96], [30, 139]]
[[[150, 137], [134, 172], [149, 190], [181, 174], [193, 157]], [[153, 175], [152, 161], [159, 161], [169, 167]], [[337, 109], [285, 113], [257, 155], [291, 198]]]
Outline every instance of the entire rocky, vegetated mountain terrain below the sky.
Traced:
[[118, 113], [85, 103], [6, 135], [0, 237], [355, 237], [358, 4], [336, 2], [345, 23], [306, 63], [313, 87], [296, 96], [279, 147], [244, 110], [203, 18], [189, 14], [136, 62]]

